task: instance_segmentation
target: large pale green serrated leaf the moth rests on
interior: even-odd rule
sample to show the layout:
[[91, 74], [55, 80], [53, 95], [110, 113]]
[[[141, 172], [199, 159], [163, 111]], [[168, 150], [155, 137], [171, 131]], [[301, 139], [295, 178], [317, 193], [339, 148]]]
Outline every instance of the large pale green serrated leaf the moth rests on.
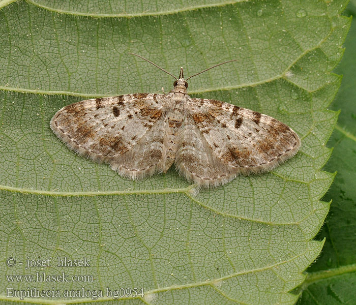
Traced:
[[[320, 198], [334, 174], [320, 169], [338, 115], [326, 108], [340, 84], [330, 71], [350, 24], [339, 16], [345, 2], [241, 2], [135, 18], [58, 14], [23, 1], [2, 6], [0, 270], [94, 280], [2, 277], [0, 298], [15, 300], [9, 287], [58, 290], [60, 303], [91, 300], [67, 298], [69, 289], [105, 296], [107, 288], [143, 287], [144, 297], [128, 302], [295, 303], [290, 291], [320, 253], [323, 242], [311, 239], [329, 209]], [[129, 181], [75, 155], [49, 129], [58, 109], [86, 97], [172, 87], [169, 76], [129, 51], [172, 73], [183, 66], [187, 75], [238, 59], [192, 79], [190, 93], [282, 120], [301, 136], [300, 153], [273, 172], [203, 191], [174, 168]], [[15, 266], [6, 264], [10, 257]], [[86, 257], [91, 266], [18, 264], [48, 257]]]

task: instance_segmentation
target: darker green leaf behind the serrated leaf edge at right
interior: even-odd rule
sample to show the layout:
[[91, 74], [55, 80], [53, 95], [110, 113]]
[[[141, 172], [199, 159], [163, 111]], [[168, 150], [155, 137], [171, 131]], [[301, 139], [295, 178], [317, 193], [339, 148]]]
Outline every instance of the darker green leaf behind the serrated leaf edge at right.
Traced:
[[[348, 15], [356, 14], [351, 2]], [[356, 22], [353, 19], [345, 43], [346, 51], [335, 72], [343, 74], [340, 91], [332, 109], [341, 109], [338, 125], [329, 141], [333, 155], [325, 169], [338, 171], [325, 200], [333, 200], [331, 211], [318, 238], [326, 238], [317, 262], [308, 269], [308, 280], [303, 285], [299, 304], [352, 304], [356, 299], [356, 112], [355, 89]]]

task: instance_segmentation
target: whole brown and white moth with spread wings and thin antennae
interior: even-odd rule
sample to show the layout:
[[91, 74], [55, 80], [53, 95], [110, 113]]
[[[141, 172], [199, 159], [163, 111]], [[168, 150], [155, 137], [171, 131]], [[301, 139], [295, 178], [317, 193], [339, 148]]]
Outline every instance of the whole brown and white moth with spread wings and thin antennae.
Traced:
[[301, 141], [287, 125], [221, 101], [191, 98], [187, 80], [181, 68], [167, 94], [135, 93], [68, 105], [52, 117], [50, 127], [76, 153], [106, 162], [124, 177], [141, 179], [166, 172], [174, 163], [199, 187], [269, 171], [298, 151]]

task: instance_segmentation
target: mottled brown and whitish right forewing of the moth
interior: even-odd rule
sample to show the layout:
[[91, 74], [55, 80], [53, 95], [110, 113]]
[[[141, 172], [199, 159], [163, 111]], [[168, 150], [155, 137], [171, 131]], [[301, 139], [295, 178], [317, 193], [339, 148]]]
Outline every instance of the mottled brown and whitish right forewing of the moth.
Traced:
[[209, 99], [190, 99], [189, 108], [214, 155], [238, 172], [271, 170], [300, 147], [298, 135], [271, 116]]

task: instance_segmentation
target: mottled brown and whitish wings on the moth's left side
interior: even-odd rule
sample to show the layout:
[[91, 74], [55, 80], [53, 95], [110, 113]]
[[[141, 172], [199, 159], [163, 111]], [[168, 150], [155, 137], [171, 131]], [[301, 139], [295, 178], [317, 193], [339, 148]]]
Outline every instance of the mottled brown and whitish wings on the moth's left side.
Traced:
[[80, 101], [59, 110], [50, 126], [79, 155], [137, 178], [160, 171], [164, 162], [163, 100], [164, 95], [131, 94]]

